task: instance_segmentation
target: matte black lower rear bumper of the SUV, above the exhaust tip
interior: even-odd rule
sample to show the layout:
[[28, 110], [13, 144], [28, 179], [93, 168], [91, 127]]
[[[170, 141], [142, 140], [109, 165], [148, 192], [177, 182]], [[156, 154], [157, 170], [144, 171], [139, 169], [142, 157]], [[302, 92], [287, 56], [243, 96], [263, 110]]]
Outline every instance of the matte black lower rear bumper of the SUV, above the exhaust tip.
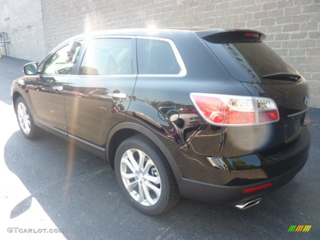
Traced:
[[[310, 146], [310, 133], [306, 127], [304, 127], [304, 136], [292, 146], [292, 149], [294, 149], [294, 146], [300, 146], [298, 152], [290, 152], [290, 149], [287, 149], [286, 151], [289, 152], [286, 157], [283, 157], [280, 160], [278, 159], [278, 161], [276, 161], [274, 164], [260, 168], [260, 171], [263, 171], [265, 176], [268, 176], [267, 178], [264, 177], [261, 179], [255, 179], [254, 183], [245, 185], [239, 183], [248, 181], [238, 179], [239, 181], [237, 182], [236, 179], [234, 179], [232, 181], [234, 183], [232, 184], [233, 186], [230, 186], [230, 184], [217, 185], [198, 180], [182, 178], [177, 179], [180, 193], [182, 196], [187, 198], [230, 205], [236, 205], [258, 198], [267, 194], [268, 192], [280, 188], [292, 180], [292, 178], [303, 168], [308, 159]], [[272, 161], [272, 159], [269, 160]], [[254, 170], [252, 169], [249, 171]], [[230, 175], [231, 172], [241, 171], [229, 171], [224, 172], [224, 174]], [[271, 182], [272, 185], [268, 188], [264, 188], [252, 193], [242, 193], [244, 189], [260, 186], [269, 182]]]

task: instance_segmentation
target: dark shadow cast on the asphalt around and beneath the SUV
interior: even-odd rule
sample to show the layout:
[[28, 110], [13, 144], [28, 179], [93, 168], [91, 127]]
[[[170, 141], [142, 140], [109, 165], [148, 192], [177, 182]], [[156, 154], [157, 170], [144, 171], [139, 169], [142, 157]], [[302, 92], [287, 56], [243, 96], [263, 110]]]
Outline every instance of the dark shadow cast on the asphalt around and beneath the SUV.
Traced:
[[[319, 109], [315, 111], [319, 114]], [[311, 114], [312, 115], [312, 114]], [[313, 116], [313, 115], [312, 115]], [[319, 115], [317, 115], [319, 116]], [[310, 124], [311, 132], [319, 120]], [[319, 132], [319, 131], [318, 131]], [[318, 144], [318, 143], [316, 143]], [[17, 147], [18, 146], [18, 147]], [[315, 149], [317, 147], [317, 152]], [[122, 196], [110, 165], [46, 133], [28, 140], [18, 131], [7, 141], [5, 163], [31, 193], [12, 210], [41, 204], [67, 239], [316, 239], [319, 233], [319, 146], [304, 169], [286, 186], [247, 210], [189, 199], [155, 217], [141, 214]], [[316, 155], [314, 155], [316, 154]], [[66, 157], [64, 157], [66, 156]], [[291, 225], [312, 225], [308, 233], [288, 233]]]

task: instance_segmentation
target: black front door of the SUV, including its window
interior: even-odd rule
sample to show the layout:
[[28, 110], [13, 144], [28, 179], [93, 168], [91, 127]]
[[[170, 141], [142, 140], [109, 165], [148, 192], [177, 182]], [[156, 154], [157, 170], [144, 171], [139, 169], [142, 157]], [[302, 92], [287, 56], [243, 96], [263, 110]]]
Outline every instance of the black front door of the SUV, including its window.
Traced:
[[67, 44], [52, 53], [39, 67], [42, 72], [29, 88], [30, 102], [37, 122], [67, 131], [65, 89], [72, 76], [74, 60], [80, 46], [78, 44], [73, 59], [68, 58]]

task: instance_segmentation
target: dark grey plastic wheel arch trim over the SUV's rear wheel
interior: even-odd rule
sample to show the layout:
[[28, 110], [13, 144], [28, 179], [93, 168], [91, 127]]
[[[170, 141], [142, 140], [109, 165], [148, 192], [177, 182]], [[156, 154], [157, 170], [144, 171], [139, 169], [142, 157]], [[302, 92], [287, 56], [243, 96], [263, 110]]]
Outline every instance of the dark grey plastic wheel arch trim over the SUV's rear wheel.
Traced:
[[182, 175], [180, 173], [178, 165], [174, 160], [174, 157], [172, 156], [170, 151], [166, 148], [164, 142], [151, 130], [136, 123], [131, 123], [131, 122], [120, 123], [114, 126], [110, 130], [106, 140], [106, 158], [109, 160], [111, 167], [114, 169], [116, 150], [118, 146], [121, 144], [121, 142], [129, 137], [132, 137], [138, 134], [145, 135], [154, 144], [156, 144], [156, 146], [160, 149], [160, 151], [163, 153], [163, 155], [167, 159], [177, 182], [179, 182], [179, 180], [182, 178]]

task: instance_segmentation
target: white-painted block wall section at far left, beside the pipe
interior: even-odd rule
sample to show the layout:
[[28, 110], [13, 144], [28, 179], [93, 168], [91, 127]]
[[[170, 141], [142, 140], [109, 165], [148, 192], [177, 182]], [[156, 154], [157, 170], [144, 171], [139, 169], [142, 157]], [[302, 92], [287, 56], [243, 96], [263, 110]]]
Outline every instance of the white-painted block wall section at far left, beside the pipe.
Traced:
[[[0, 32], [7, 33], [10, 42], [7, 55], [42, 60], [46, 50], [41, 0], [0, 0], [0, 6]], [[1, 50], [4, 55], [4, 47]]]

